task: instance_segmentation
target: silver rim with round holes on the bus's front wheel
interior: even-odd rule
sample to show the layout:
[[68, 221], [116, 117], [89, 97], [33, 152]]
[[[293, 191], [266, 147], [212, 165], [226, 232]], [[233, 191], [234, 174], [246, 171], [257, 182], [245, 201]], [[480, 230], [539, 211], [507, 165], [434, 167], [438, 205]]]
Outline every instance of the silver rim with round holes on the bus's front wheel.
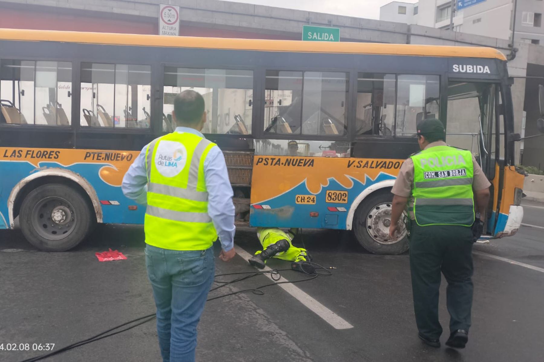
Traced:
[[[403, 215], [405, 215], [403, 213]], [[391, 225], [391, 202], [382, 202], [375, 205], [367, 214], [367, 231], [375, 242], [380, 244], [395, 244], [406, 236], [406, 226], [399, 220], [399, 236], [393, 240], [389, 238], [389, 227]]]

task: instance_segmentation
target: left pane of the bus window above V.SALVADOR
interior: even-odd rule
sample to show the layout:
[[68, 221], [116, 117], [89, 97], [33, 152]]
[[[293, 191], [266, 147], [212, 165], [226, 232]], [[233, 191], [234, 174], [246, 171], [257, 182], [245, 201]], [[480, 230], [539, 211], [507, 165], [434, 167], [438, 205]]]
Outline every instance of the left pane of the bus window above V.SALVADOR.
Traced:
[[395, 82], [395, 74], [357, 74], [356, 135], [393, 134]]

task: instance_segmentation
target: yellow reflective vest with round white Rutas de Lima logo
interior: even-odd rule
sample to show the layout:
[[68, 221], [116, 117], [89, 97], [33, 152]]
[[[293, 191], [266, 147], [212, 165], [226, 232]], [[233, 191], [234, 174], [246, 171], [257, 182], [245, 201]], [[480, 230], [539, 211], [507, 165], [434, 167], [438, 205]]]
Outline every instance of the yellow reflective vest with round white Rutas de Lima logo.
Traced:
[[147, 244], [170, 250], [205, 250], [217, 239], [208, 215], [204, 178], [204, 160], [215, 146], [189, 132], [172, 132], [147, 146]]

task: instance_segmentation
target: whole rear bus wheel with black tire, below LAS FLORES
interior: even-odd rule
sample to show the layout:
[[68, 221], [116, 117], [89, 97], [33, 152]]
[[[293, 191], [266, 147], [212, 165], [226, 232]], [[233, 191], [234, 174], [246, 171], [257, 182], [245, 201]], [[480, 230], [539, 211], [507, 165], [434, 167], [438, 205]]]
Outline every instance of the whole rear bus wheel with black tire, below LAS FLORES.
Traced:
[[72, 187], [49, 183], [24, 198], [19, 223], [28, 242], [43, 251], [70, 250], [89, 234], [94, 213]]

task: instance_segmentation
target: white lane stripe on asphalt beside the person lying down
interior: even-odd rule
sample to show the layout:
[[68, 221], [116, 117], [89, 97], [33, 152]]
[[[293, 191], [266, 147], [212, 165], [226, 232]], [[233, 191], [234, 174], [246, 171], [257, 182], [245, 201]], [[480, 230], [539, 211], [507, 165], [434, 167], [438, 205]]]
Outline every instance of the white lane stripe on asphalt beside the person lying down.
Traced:
[[[234, 249], [236, 249], [236, 252], [239, 256], [244, 258], [246, 261], [252, 257], [250, 253], [242, 249], [241, 247], [238, 247], [237, 245], [234, 245]], [[263, 270], [272, 270], [268, 266], [265, 266]], [[280, 280], [273, 280], [270, 274], [265, 274], [270, 280], [273, 282], [287, 282], [286, 278], [281, 277]], [[310, 309], [313, 313], [316, 313], [319, 317], [321, 317], [325, 322], [329, 323], [332, 327], [336, 329], [349, 329], [353, 328], [350, 323], [339, 317], [336, 313], [332, 312], [329, 308], [325, 307], [323, 304], [319, 303], [317, 300], [313, 299], [310, 295], [305, 293], [304, 291], [300, 290], [296, 285], [284, 283], [284, 284], [278, 284], [278, 287], [281, 289], [287, 291], [290, 295], [292, 295], [296, 300], [304, 304], [308, 309]]]

